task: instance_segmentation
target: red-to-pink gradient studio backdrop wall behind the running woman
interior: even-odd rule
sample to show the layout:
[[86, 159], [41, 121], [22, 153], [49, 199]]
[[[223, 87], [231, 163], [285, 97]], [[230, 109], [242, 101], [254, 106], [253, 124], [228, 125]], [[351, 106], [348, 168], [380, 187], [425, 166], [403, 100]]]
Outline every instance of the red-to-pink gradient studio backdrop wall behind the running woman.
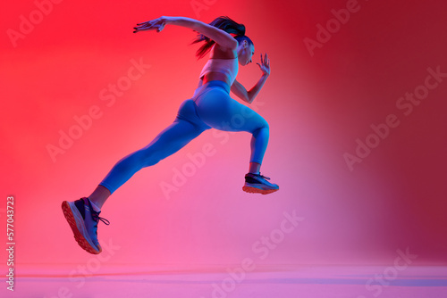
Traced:
[[[120, 246], [110, 263], [224, 267], [250, 257], [259, 266], [384, 264], [409, 249], [417, 264], [445, 265], [447, 79], [408, 116], [396, 102], [425, 83], [428, 68], [447, 72], [447, 4], [360, 0], [358, 12], [311, 56], [304, 38], [316, 39], [316, 25], [325, 26], [331, 10], [346, 4], [216, 0], [195, 12], [190, 1], [67, 0], [15, 47], [6, 30], [18, 31], [21, 15], [29, 19], [37, 6], [6, 4], [0, 210], [5, 222], [6, 197], [14, 195], [16, 267], [89, 260], [60, 204], [89, 195], [116, 161], [168, 126], [194, 92], [206, 60], [197, 62], [198, 46], [188, 46], [193, 32], [167, 27], [132, 34], [135, 23], [160, 15], [206, 22], [229, 15], [244, 23], [256, 47], [255, 63], [240, 68], [246, 87], [260, 76], [259, 54], [269, 55], [272, 73], [253, 106], [271, 129], [261, 172], [281, 191], [243, 193], [249, 134], [208, 130], [141, 170], [105, 204], [101, 216], [111, 225], [99, 224], [99, 238]], [[124, 82], [132, 60], [150, 67], [111, 102], [103, 89]], [[60, 131], [74, 129], [74, 117], [92, 106], [101, 116], [53, 161], [47, 145], [59, 146]], [[400, 125], [350, 170], [343, 154], [355, 154], [356, 139], [365, 142], [370, 126], [389, 114]], [[172, 185], [175, 170], [190, 163], [188, 154], [206, 144], [214, 154], [168, 199], [161, 185]], [[257, 241], [293, 211], [304, 219], [261, 258], [253, 245], [261, 247]]]

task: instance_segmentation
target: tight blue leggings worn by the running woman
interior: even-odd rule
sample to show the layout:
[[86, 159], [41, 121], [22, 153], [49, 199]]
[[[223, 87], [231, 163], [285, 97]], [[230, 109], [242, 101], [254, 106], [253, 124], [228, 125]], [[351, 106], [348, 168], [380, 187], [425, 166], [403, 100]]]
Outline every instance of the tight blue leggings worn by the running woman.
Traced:
[[149, 145], [118, 161], [99, 185], [113, 194], [137, 171], [176, 153], [210, 128], [251, 133], [250, 162], [262, 163], [268, 144], [268, 123], [257, 112], [232, 99], [227, 84], [214, 80], [198, 87], [191, 99], [181, 103], [173, 124]]

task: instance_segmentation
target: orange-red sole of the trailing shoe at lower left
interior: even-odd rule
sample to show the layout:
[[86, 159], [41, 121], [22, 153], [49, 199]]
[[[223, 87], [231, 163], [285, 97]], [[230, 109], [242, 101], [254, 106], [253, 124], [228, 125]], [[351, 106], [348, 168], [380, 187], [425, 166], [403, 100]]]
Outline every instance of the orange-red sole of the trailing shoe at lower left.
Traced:
[[62, 203], [63, 216], [67, 219], [70, 228], [72, 228], [74, 239], [82, 247], [83, 250], [92, 254], [98, 254], [101, 250], [97, 250], [96, 246], [89, 242], [89, 233], [84, 225], [84, 219], [80, 215], [80, 211], [73, 203], [73, 206], [67, 202]]

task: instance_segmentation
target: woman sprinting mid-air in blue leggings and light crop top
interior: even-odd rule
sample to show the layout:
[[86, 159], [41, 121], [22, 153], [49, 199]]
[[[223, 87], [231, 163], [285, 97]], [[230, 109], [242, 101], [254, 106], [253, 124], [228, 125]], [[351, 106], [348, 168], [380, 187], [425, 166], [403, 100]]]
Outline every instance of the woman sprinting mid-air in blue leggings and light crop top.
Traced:
[[139, 23], [135, 31], [156, 30], [166, 25], [177, 25], [198, 32], [194, 43], [204, 42], [198, 49], [198, 58], [211, 52], [208, 62], [200, 73], [198, 88], [191, 99], [181, 103], [176, 119], [146, 147], [118, 161], [95, 191], [87, 198], [62, 203], [63, 215], [67, 219], [80, 247], [90, 253], [102, 251], [97, 241], [97, 223], [107, 219], [99, 217], [105, 200], [122, 186], [137, 171], [152, 166], [167, 156], [176, 153], [203, 131], [216, 128], [225, 131], [247, 131], [252, 135], [249, 173], [245, 175], [242, 189], [248, 193], [271, 194], [279, 186], [268, 182], [260, 174], [269, 137], [268, 123], [257, 112], [236, 102], [230, 90], [243, 101], [253, 102], [270, 74], [267, 54], [261, 54], [261, 79], [249, 91], [237, 80], [239, 65], [251, 62], [255, 47], [245, 36], [245, 26], [228, 17], [219, 17], [209, 24], [184, 17], [160, 17]]

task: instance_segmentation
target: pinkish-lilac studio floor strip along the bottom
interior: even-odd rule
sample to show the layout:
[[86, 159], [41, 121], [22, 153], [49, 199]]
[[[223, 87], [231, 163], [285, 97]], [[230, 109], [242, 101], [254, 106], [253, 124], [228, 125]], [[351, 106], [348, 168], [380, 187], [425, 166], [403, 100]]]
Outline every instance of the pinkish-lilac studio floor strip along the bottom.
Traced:
[[[234, 269], [234, 267], [229, 267]], [[93, 267], [90, 267], [93, 269]], [[447, 267], [295, 267], [283, 269], [101, 268], [31, 266], [14, 277], [14, 291], [1, 297], [160, 298], [443, 298]]]

